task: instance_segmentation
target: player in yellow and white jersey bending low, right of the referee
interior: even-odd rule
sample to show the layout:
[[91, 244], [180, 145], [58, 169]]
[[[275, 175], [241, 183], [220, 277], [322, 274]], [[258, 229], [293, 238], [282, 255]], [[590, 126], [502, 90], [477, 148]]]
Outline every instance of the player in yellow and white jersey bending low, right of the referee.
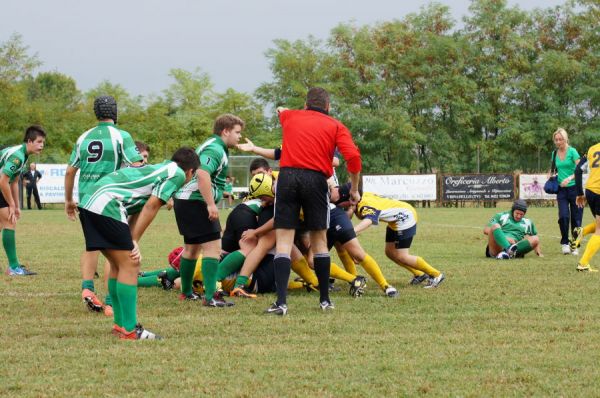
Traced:
[[443, 273], [433, 268], [423, 257], [409, 253], [413, 237], [417, 233], [417, 212], [408, 203], [387, 199], [365, 192], [356, 205], [356, 216], [362, 220], [354, 227], [357, 234], [379, 221], [388, 224], [385, 234], [385, 255], [414, 275], [413, 280], [427, 275], [426, 289], [435, 288], [445, 279]]

